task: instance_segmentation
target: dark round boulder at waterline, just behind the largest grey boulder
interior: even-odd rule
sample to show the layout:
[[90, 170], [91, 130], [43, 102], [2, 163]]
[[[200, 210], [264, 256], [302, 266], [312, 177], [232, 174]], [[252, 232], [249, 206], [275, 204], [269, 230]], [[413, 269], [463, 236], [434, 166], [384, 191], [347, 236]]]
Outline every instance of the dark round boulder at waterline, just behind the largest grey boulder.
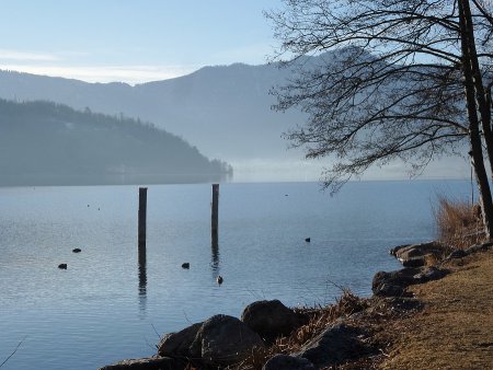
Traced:
[[267, 343], [274, 343], [279, 336], [289, 335], [302, 324], [300, 315], [279, 300], [249, 304], [241, 314], [241, 321]]

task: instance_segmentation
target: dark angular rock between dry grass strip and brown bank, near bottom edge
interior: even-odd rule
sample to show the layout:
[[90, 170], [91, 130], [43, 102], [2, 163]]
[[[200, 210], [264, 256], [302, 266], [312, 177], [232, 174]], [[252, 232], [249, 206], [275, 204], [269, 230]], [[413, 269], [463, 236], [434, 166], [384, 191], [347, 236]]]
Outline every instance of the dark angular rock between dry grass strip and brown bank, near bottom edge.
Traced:
[[358, 359], [372, 352], [372, 348], [360, 339], [362, 334], [364, 333], [360, 328], [340, 322], [326, 328], [294, 355], [310, 360], [319, 368]]

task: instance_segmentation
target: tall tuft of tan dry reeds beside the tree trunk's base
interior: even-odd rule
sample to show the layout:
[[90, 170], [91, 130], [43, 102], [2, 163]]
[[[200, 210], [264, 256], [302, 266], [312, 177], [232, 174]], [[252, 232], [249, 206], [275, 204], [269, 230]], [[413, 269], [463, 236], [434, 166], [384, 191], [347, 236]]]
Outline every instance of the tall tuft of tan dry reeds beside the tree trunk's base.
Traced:
[[471, 206], [468, 201], [440, 196], [434, 213], [442, 244], [463, 250], [482, 242], [483, 223], [478, 205]]

